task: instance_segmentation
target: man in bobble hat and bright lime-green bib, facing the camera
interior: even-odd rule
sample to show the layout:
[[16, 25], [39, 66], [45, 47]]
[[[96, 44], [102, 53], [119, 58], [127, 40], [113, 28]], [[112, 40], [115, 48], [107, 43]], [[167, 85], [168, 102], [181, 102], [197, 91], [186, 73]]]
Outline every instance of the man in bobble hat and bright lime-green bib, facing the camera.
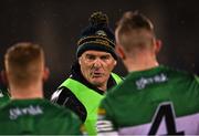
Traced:
[[53, 103], [74, 111], [90, 135], [96, 134], [96, 111], [105, 92], [122, 81], [112, 73], [117, 63], [114, 49], [115, 36], [108, 28], [107, 15], [94, 12], [77, 41], [77, 61], [70, 77], [51, 97]]

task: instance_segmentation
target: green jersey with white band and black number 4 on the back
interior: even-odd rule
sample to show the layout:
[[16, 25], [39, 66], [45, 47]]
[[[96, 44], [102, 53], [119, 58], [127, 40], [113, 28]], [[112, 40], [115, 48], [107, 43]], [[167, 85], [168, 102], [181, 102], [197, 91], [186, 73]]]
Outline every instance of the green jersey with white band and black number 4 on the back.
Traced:
[[97, 129], [119, 135], [199, 134], [199, 82], [158, 66], [132, 72], [102, 101]]

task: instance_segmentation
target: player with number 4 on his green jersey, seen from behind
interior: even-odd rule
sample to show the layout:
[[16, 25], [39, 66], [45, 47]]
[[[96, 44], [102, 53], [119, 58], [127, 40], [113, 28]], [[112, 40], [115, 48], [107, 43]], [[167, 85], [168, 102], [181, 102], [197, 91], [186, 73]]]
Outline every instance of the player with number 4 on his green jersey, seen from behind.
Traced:
[[115, 31], [116, 51], [129, 74], [98, 109], [98, 134], [199, 135], [197, 76], [159, 65], [151, 22], [126, 12]]

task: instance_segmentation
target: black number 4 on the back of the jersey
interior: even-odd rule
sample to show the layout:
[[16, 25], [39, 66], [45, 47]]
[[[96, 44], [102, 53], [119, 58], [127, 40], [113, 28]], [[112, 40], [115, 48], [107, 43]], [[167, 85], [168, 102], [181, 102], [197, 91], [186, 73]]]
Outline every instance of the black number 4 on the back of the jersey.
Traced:
[[176, 115], [172, 108], [172, 104], [161, 103], [156, 111], [148, 135], [157, 134], [158, 128], [164, 117], [165, 117], [165, 123], [166, 123], [166, 128], [167, 128], [167, 135], [184, 135], [185, 134], [184, 132], [177, 132], [176, 129], [176, 123], [175, 123]]

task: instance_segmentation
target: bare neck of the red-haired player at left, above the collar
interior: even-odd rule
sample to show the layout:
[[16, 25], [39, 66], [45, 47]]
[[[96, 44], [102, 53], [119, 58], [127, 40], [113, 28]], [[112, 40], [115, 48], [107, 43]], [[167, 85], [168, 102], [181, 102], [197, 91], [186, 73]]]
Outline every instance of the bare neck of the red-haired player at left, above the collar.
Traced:
[[10, 86], [10, 93], [12, 100], [29, 100], [29, 98], [42, 98], [42, 83], [34, 83], [25, 87]]

